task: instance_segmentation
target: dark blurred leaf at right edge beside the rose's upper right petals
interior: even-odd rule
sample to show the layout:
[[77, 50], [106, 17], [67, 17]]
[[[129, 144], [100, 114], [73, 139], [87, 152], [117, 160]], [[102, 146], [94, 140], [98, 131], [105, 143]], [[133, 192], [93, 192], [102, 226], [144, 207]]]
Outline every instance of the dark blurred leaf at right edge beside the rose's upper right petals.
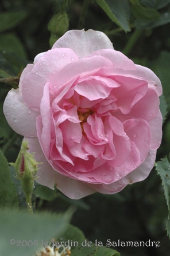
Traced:
[[169, 63], [170, 63], [170, 52], [162, 51], [160, 57], [152, 63], [152, 70], [160, 78], [163, 85], [163, 92], [165, 100], [167, 101], [168, 110], [170, 110], [170, 73], [169, 73]]

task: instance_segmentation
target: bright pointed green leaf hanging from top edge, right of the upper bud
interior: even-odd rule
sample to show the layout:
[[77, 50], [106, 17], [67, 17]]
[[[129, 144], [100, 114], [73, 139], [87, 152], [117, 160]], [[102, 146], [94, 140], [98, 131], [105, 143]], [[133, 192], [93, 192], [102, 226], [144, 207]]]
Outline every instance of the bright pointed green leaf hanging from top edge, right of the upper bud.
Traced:
[[129, 27], [129, 2], [127, 0], [96, 0], [107, 16], [124, 31], [130, 31]]

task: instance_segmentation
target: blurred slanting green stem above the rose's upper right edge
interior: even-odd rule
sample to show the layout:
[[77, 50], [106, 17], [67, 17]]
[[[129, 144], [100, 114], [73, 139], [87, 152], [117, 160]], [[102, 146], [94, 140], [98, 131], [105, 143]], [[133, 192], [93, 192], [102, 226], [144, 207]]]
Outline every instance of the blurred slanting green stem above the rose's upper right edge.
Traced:
[[134, 32], [132, 33], [132, 35], [130, 36], [129, 41], [127, 42], [124, 50], [123, 50], [123, 54], [125, 54], [126, 56], [128, 56], [130, 54], [130, 52], [133, 50], [134, 45], [137, 43], [137, 41], [140, 39], [140, 36], [142, 34], [142, 30], [139, 29], [135, 29]]

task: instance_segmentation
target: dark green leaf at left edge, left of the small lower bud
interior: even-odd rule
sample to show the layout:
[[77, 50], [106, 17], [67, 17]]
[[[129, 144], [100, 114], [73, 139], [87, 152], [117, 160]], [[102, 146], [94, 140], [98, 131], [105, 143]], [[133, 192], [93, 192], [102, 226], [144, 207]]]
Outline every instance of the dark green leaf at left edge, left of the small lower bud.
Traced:
[[0, 207], [17, 207], [18, 198], [13, 181], [11, 180], [9, 164], [0, 150]]

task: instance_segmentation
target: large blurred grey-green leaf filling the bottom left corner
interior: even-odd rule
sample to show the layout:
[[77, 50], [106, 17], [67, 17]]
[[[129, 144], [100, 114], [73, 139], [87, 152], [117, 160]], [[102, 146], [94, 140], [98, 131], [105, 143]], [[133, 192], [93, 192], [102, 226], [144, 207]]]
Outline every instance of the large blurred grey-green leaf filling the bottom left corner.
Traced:
[[5, 209], [0, 212], [1, 255], [30, 256], [67, 228], [71, 213], [48, 212], [28, 214]]

